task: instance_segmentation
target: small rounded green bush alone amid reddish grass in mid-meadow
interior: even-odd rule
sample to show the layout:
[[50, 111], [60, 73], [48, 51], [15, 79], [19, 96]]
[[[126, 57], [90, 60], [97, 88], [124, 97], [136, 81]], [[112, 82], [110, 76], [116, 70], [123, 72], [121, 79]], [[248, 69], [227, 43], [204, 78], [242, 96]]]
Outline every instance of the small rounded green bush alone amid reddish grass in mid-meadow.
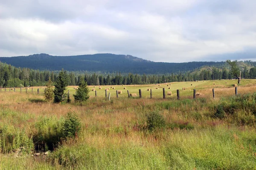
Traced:
[[166, 121], [158, 111], [153, 111], [147, 116], [147, 129], [152, 131], [166, 126]]

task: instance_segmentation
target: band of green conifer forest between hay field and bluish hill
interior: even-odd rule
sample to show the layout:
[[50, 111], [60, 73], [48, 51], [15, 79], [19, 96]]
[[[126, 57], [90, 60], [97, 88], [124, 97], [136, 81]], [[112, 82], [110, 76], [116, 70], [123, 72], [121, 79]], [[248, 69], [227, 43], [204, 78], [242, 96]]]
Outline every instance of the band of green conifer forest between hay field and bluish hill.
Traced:
[[[16, 68], [12, 65], [0, 63], [0, 86], [1, 87], [29, 87], [44, 86], [49, 79], [56, 82], [59, 71], [39, 71], [29, 68]], [[77, 74], [64, 71], [68, 85], [79, 85], [82, 80], [87, 85], [142, 85], [164, 82], [183, 82], [196, 80], [233, 79], [228, 68], [209, 67], [204, 70], [196, 70], [185, 73], [139, 75], [139, 74]], [[256, 67], [244, 67], [241, 77], [245, 79], [256, 78]]]

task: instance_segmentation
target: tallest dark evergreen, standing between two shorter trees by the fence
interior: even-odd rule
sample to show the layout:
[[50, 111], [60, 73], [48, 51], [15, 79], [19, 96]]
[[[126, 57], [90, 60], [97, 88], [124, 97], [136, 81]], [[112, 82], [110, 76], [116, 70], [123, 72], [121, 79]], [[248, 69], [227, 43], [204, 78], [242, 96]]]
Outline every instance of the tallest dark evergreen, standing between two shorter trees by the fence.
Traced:
[[66, 95], [64, 94], [64, 91], [67, 88], [67, 85], [69, 84], [69, 79], [67, 77], [67, 73], [61, 70], [59, 73], [56, 81], [55, 81], [55, 89], [53, 91], [54, 93], [54, 101], [55, 103], [63, 102], [66, 99]]

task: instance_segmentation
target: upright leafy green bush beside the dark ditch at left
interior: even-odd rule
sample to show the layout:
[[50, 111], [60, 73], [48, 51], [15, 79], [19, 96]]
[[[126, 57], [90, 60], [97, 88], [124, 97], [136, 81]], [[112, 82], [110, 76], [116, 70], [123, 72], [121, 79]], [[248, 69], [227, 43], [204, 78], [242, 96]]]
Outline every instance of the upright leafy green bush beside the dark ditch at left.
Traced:
[[81, 122], [76, 112], [74, 111], [68, 112], [62, 128], [62, 137], [64, 138], [76, 137], [80, 130], [81, 130]]

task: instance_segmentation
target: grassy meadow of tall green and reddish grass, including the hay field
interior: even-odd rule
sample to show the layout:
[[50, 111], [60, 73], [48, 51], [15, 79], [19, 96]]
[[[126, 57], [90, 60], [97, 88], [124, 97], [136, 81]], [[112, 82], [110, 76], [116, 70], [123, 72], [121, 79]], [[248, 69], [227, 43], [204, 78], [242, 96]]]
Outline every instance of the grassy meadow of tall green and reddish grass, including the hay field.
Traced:
[[[46, 103], [44, 87], [1, 89], [0, 169], [256, 170], [256, 79], [241, 80], [237, 96], [233, 84], [237, 80], [89, 86], [97, 97], [90, 91], [82, 105], [72, 95], [70, 104]], [[67, 90], [75, 94], [74, 88]], [[193, 99], [193, 89], [202, 95]], [[118, 99], [116, 90], [122, 90]], [[137, 97], [128, 98], [127, 90]], [[81, 131], [64, 140], [68, 112], [78, 115]]]

